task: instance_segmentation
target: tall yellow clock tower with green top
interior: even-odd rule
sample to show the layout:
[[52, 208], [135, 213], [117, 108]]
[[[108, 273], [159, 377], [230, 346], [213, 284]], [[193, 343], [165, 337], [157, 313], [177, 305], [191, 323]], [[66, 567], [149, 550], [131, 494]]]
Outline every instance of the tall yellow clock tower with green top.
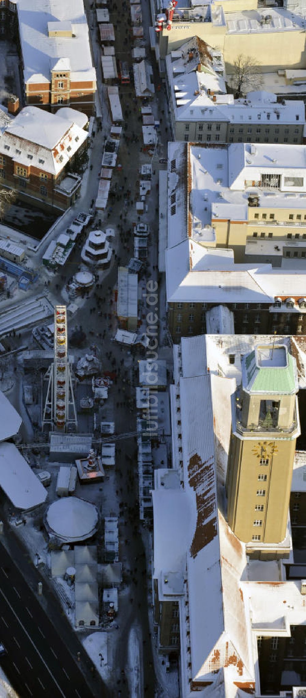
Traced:
[[287, 535], [298, 418], [296, 360], [286, 346], [257, 346], [242, 359], [233, 396], [226, 490], [228, 523], [256, 549]]

